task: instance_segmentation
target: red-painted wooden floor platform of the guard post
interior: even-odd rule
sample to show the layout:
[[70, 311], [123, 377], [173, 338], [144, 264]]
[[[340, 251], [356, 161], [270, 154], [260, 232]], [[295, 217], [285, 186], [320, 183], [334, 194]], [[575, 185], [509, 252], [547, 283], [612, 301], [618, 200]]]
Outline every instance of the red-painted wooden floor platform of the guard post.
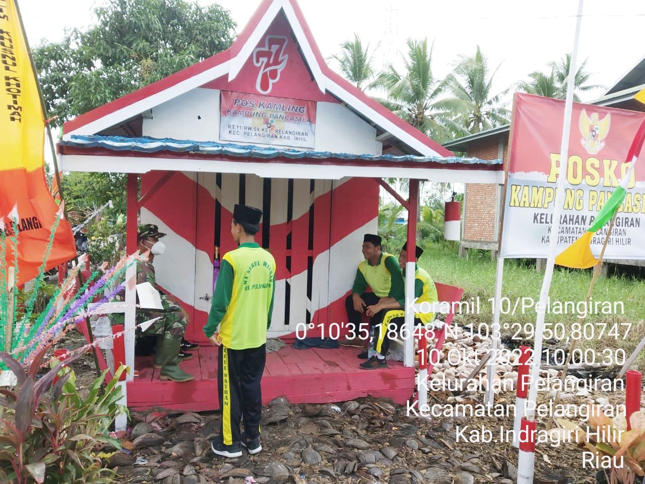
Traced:
[[[284, 396], [292, 403], [329, 403], [363, 396], [391, 398], [403, 404], [412, 396], [415, 370], [399, 361], [387, 369], [362, 370], [359, 348], [296, 350], [288, 344], [266, 355], [262, 378], [263, 403]], [[159, 379], [152, 356], [137, 357], [139, 376], [128, 383], [128, 407], [137, 410], [161, 407], [174, 410], [217, 410], [217, 348], [203, 346], [195, 358], [181, 363], [193, 381], [175, 383]]]

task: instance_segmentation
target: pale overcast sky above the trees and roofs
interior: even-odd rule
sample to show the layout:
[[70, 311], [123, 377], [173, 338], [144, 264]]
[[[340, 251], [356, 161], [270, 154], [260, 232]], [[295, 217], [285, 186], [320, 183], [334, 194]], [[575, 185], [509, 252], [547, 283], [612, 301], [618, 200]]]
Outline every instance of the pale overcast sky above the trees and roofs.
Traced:
[[[104, 0], [18, 0], [32, 46], [41, 39], [57, 41], [65, 28], [94, 21], [92, 7]], [[199, 0], [202, 5], [213, 3]], [[239, 32], [259, 0], [221, 0], [230, 10]], [[476, 46], [498, 65], [495, 91], [526, 78], [533, 70], [546, 70], [548, 61], [562, 57], [573, 46], [575, 0], [300, 0], [304, 16], [325, 57], [357, 33], [374, 47], [380, 42], [375, 64], [391, 60], [400, 65], [399, 52], [408, 37], [428, 37], [435, 43], [433, 71], [444, 77], [460, 54], [473, 54]], [[64, 6], [64, 8], [63, 8]], [[589, 58], [594, 83], [610, 86], [645, 55], [645, 2], [637, 0], [586, 0], [584, 2], [579, 59]], [[333, 65], [333, 64], [332, 64]], [[591, 101], [604, 94], [585, 94]]]

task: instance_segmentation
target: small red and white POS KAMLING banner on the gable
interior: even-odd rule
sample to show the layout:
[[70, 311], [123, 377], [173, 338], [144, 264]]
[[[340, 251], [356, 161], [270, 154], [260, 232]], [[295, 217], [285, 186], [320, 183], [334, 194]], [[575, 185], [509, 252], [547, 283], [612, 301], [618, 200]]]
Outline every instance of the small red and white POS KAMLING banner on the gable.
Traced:
[[315, 146], [315, 101], [222, 91], [220, 114], [221, 140]]

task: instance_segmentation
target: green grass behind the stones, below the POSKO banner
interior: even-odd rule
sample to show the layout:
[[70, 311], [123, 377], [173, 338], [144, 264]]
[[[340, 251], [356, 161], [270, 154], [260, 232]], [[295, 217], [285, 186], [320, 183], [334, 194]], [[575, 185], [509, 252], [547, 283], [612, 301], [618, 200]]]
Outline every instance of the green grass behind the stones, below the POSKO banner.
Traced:
[[[492, 305], [488, 301], [495, 295], [495, 272], [497, 263], [491, 261], [488, 251], [469, 251], [468, 258], [459, 257], [456, 248], [449, 247], [446, 243], [429, 245], [419, 265], [428, 270], [428, 273], [436, 282], [450, 284], [464, 288], [462, 301], [477, 301], [479, 297], [479, 312], [475, 314], [457, 314], [455, 321], [462, 326], [470, 324], [477, 327], [479, 324], [491, 325], [493, 321]], [[591, 283], [591, 269], [570, 270], [557, 267], [553, 272], [550, 297], [551, 307], [555, 301], [584, 301], [589, 285]], [[544, 272], [537, 272], [535, 265], [532, 267], [525, 260], [509, 259], [504, 264], [504, 283], [502, 285], [502, 297], [510, 300], [509, 314], [501, 314], [500, 324], [502, 336], [514, 336], [520, 327], [526, 325], [526, 336], [532, 336], [532, 328], [535, 325], [537, 314], [533, 308], [522, 312], [522, 297], [532, 298], [539, 301], [540, 290]], [[624, 348], [627, 356], [645, 334], [645, 327], [642, 319], [645, 318], [645, 281], [635, 279], [631, 276], [610, 276], [599, 277], [591, 293], [591, 301], [609, 301], [612, 312], [614, 303], [623, 303], [624, 313], [622, 314], [588, 314], [583, 324], [593, 323], [593, 335], [591, 327], [588, 327], [588, 339], [582, 338], [582, 347], [596, 348], [600, 351], [604, 348]], [[472, 298], [472, 299], [471, 299]], [[511, 314], [515, 301], [520, 300]], [[502, 305], [504, 310], [506, 305]], [[476, 308], [475, 308], [476, 309]], [[599, 307], [599, 310], [602, 306]], [[620, 308], [618, 308], [620, 310]], [[546, 314], [545, 323], [552, 323], [551, 328], [557, 323], [563, 323], [566, 336], [571, 335], [571, 325], [578, 323], [577, 313], [571, 314]], [[627, 337], [623, 339], [627, 326], [620, 323], [631, 323]], [[599, 338], [599, 332], [603, 330], [604, 335]], [[508, 327], [506, 326], [508, 325]], [[611, 328], [617, 330], [617, 336], [608, 336]], [[482, 326], [482, 335], [485, 326]], [[519, 337], [519, 334], [517, 334]], [[532, 339], [532, 338], [531, 338]], [[642, 359], [645, 362], [645, 356]]]

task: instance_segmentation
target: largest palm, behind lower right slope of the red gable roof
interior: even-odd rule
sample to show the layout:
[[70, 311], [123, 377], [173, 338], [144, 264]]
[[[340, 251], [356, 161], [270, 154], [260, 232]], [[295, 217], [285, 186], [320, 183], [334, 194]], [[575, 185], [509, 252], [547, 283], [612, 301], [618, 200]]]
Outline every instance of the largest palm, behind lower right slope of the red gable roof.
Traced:
[[408, 39], [408, 56], [404, 57], [404, 72], [388, 66], [370, 85], [383, 88], [386, 99], [377, 99], [382, 105], [412, 126], [439, 143], [452, 139], [453, 125], [450, 112], [437, 109], [437, 98], [444, 84], [432, 74], [432, 48], [428, 39]]

